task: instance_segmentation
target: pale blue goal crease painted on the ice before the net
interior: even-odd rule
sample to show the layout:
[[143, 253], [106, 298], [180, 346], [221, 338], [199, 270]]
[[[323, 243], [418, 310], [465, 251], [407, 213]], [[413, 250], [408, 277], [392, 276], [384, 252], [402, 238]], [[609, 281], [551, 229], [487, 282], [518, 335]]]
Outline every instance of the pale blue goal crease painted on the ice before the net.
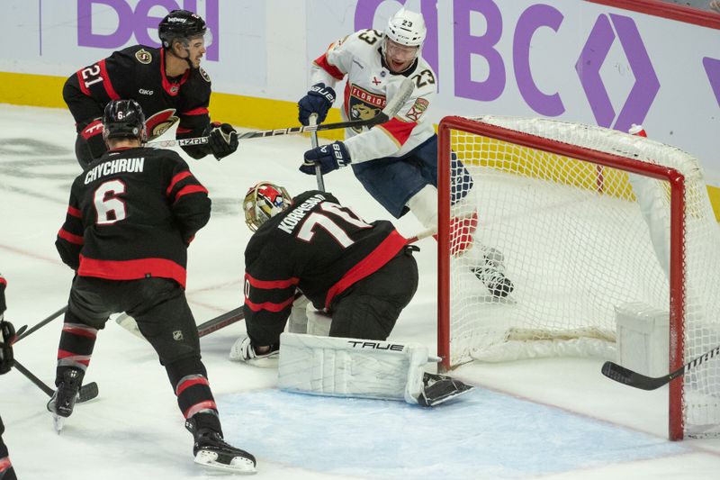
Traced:
[[275, 389], [217, 401], [230, 443], [268, 461], [337, 475], [522, 478], [689, 452], [482, 388], [432, 409]]

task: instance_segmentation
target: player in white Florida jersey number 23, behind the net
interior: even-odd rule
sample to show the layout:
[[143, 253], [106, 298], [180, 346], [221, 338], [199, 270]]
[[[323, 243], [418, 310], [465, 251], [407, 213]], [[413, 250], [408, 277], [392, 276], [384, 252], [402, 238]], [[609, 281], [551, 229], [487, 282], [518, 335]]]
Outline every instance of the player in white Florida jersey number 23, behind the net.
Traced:
[[[346, 140], [305, 152], [300, 170], [315, 175], [351, 165], [358, 180], [395, 218], [411, 211], [428, 230], [437, 231], [437, 134], [426, 111], [437, 92], [437, 78], [421, 56], [427, 29], [421, 14], [405, 8], [392, 16], [384, 32], [362, 30], [331, 44], [313, 62], [311, 89], [298, 102], [299, 120], [321, 123], [335, 102], [334, 87], [347, 77], [340, 112], [344, 120], [371, 118], [398, 91], [405, 78], [415, 88], [400, 112], [372, 129], [348, 128]], [[453, 156], [453, 204], [472, 203], [473, 179]], [[473, 248], [477, 212], [452, 219], [459, 240], [453, 255], [473, 257], [473, 273], [496, 297], [513, 290], [504, 275], [502, 254], [480, 244]]]

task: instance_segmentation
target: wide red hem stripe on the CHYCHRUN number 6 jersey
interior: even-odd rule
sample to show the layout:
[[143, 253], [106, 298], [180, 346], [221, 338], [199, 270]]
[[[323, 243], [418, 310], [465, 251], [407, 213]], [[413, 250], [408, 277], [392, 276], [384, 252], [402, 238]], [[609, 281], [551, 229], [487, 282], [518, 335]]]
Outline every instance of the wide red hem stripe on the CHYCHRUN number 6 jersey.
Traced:
[[108, 280], [138, 280], [159, 276], [171, 278], [185, 287], [187, 272], [184, 267], [166, 258], [139, 258], [135, 260], [97, 260], [80, 256], [79, 276], [95, 276]]

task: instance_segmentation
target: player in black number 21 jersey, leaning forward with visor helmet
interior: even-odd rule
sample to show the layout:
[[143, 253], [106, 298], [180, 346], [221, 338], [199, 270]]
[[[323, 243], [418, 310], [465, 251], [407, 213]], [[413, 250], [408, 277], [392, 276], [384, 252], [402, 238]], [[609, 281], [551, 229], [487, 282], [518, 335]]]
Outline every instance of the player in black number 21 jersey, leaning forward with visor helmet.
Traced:
[[82, 167], [106, 150], [103, 108], [112, 100], [131, 98], [142, 106], [148, 140], [179, 122], [175, 137], [209, 135], [204, 145], [183, 147], [193, 158], [223, 158], [238, 149], [238, 134], [228, 123], [211, 122], [211, 82], [200, 67], [208, 33], [202, 18], [174, 10], [158, 25], [160, 49], [135, 45], [79, 69], [67, 78], [63, 98], [76, 122], [76, 157]]

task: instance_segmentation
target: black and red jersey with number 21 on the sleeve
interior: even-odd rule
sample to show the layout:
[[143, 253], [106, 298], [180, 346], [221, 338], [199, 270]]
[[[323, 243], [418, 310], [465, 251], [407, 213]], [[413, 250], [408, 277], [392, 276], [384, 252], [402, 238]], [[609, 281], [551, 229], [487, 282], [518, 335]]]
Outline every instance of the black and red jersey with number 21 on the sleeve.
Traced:
[[68, 103], [76, 122], [87, 124], [82, 131], [86, 138], [95, 130], [102, 131], [104, 106], [120, 98], [131, 98], [140, 104], [148, 140], [157, 138], [178, 121], [175, 135], [178, 139], [202, 137], [210, 125], [210, 77], [202, 68], [191, 68], [182, 77], [168, 78], [162, 49], [135, 45], [115, 51], [110, 57], [77, 70], [67, 79], [68, 87], [75, 87], [94, 100], [82, 105]]

